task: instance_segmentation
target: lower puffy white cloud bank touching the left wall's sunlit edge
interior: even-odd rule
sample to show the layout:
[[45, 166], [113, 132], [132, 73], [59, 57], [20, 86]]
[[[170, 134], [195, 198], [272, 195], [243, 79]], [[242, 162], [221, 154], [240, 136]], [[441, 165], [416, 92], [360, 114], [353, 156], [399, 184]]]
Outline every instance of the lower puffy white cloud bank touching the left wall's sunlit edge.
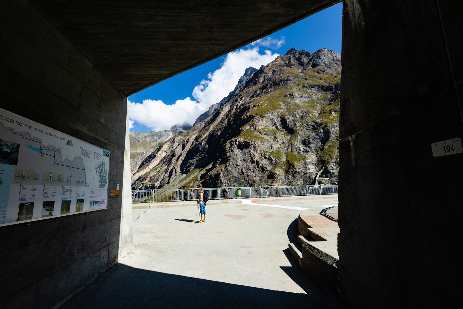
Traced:
[[144, 100], [143, 103], [135, 103], [127, 100], [129, 105], [129, 118], [133, 121], [148, 126], [151, 131], [163, 131], [170, 129], [177, 123], [194, 123], [196, 118], [204, 113], [209, 106], [197, 103], [189, 97], [175, 101], [168, 105], [161, 100]]

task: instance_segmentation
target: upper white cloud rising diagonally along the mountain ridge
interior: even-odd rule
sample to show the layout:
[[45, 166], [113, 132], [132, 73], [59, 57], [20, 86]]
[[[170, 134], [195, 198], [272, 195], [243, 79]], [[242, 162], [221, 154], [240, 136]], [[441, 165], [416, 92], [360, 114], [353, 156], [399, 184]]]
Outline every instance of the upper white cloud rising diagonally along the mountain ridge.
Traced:
[[200, 85], [194, 87], [193, 96], [208, 106], [218, 103], [235, 88], [245, 69], [249, 67], [259, 69], [261, 65], [269, 64], [278, 56], [272, 54], [270, 50], [259, 54], [258, 47], [232, 51], [227, 55], [220, 69], [209, 73], [208, 80], [202, 80]]

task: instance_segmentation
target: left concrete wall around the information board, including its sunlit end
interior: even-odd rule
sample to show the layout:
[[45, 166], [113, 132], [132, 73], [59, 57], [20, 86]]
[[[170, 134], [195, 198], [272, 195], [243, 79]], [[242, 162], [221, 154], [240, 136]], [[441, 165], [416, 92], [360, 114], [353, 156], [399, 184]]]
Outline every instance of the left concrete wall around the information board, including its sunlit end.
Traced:
[[[0, 107], [111, 151], [108, 209], [0, 227], [0, 307], [51, 308], [131, 250], [127, 101], [23, 0], [0, 2]], [[19, 279], [20, 277], [20, 279]]]

